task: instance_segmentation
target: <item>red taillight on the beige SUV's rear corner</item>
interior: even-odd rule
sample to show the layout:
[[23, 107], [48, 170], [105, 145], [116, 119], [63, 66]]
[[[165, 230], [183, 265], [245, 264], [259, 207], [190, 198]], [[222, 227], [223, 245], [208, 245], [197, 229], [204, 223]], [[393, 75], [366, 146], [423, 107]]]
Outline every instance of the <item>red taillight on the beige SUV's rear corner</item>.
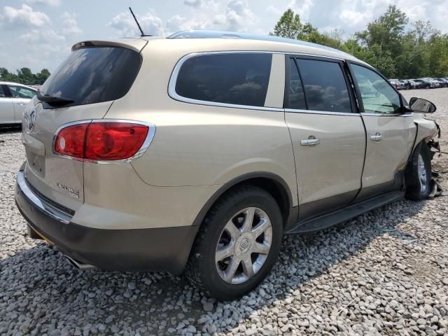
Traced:
[[154, 126], [111, 120], [68, 125], [56, 135], [55, 152], [94, 161], [129, 159], [146, 149], [142, 147], [151, 127]]

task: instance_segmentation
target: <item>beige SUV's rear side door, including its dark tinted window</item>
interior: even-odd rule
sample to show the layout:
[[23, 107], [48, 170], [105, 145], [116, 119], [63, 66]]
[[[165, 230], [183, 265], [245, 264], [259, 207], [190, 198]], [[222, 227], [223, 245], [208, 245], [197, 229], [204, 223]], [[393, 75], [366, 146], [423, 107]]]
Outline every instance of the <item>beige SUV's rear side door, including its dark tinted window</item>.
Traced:
[[300, 221], [344, 207], [360, 190], [365, 130], [345, 66], [339, 59], [286, 59], [285, 118]]

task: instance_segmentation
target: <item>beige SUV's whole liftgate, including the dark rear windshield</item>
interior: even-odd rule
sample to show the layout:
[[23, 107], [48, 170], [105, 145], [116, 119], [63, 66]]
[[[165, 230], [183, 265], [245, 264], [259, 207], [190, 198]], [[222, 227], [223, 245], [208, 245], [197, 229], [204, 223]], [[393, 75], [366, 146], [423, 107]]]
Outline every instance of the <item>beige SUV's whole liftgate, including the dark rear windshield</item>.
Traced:
[[140, 65], [137, 50], [81, 46], [43, 84], [40, 94], [73, 103], [55, 106], [34, 97], [25, 110], [25, 177], [39, 193], [69, 209], [80, 207], [84, 199], [83, 162], [55, 154], [55, 134], [67, 123], [103, 118], [113, 100], [130, 90]]

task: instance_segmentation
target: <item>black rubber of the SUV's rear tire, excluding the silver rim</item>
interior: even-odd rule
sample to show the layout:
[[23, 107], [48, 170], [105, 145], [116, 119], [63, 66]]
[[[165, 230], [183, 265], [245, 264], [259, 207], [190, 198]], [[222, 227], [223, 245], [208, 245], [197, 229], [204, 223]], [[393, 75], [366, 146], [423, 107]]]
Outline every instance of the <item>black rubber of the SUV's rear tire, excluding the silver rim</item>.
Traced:
[[[202, 251], [202, 274], [204, 274], [203, 284], [209, 290], [211, 295], [221, 300], [230, 300], [239, 297], [252, 290], [265, 279], [269, 274], [272, 266], [276, 261], [276, 256], [281, 248], [281, 239], [283, 236], [283, 224], [281, 212], [274, 201], [274, 199], [267, 193], [251, 193], [252, 195], [238, 195], [238, 200], [235, 202], [228, 202], [226, 207], [220, 209], [214, 216], [211, 223], [211, 230], [207, 232], [207, 237], [204, 237], [210, 244], [204, 246]], [[263, 195], [265, 194], [265, 195]], [[221, 237], [225, 224], [230, 221], [232, 216], [235, 216], [238, 211], [248, 207], [257, 207], [265, 211], [272, 225], [272, 245], [267, 256], [267, 260], [262, 265], [262, 268], [248, 281], [241, 284], [232, 285], [221, 279], [218, 274], [215, 264], [215, 253], [218, 239]]]

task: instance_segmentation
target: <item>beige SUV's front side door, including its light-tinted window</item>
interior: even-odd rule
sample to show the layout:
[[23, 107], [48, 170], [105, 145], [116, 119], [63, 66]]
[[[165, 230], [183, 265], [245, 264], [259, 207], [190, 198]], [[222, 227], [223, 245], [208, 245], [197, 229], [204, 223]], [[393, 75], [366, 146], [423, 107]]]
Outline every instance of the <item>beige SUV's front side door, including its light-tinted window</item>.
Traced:
[[360, 92], [367, 131], [363, 189], [357, 200], [402, 188], [402, 176], [414, 144], [412, 113], [402, 113], [400, 94], [377, 72], [351, 64]]

